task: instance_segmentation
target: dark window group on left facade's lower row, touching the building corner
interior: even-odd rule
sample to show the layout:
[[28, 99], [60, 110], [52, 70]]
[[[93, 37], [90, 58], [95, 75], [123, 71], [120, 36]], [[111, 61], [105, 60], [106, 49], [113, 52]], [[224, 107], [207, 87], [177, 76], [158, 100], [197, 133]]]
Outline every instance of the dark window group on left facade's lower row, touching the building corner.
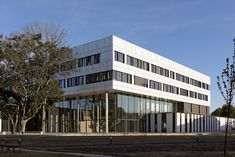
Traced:
[[86, 84], [112, 80], [112, 70], [86, 75]]

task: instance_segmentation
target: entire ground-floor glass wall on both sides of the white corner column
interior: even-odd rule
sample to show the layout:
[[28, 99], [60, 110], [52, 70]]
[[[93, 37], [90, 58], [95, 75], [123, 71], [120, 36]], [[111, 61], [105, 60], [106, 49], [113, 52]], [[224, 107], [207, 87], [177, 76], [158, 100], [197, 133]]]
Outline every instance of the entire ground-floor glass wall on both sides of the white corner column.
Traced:
[[[174, 112], [175, 102], [109, 93], [109, 132], [157, 132], [157, 113]], [[59, 108], [59, 132], [105, 132], [105, 94], [68, 99]]]

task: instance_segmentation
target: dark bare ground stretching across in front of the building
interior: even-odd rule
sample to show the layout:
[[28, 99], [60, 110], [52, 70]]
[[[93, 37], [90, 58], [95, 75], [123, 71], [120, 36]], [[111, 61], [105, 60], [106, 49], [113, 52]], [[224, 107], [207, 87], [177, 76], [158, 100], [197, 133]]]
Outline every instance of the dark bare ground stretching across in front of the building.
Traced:
[[[220, 157], [223, 156], [223, 135], [170, 136], [49, 136], [4, 135], [0, 139], [18, 143], [24, 149], [57, 152], [90, 153], [126, 157]], [[229, 156], [235, 157], [235, 135], [228, 136]]]

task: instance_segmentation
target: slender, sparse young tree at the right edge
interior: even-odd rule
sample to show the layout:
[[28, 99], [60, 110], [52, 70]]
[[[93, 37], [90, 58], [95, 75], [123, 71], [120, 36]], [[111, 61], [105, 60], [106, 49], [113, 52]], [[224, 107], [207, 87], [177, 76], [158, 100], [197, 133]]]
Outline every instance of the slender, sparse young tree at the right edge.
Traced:
[[226, 102], [226, 105], [228, 105], [225, 139], [224, 139], [224, 157], [227, 156], [228, 124], [229, 124], [229, 118], [230, 118], [231, 105], [232, 105], [233, 97], [235, 94], [235, 39], [233, 40], [233, 42], [234, 42], [233, 63], [230, 64], [229, 58], [227, 58], [226, 68], [223, 69], [220, 76], [217, 76], [217, 85]]

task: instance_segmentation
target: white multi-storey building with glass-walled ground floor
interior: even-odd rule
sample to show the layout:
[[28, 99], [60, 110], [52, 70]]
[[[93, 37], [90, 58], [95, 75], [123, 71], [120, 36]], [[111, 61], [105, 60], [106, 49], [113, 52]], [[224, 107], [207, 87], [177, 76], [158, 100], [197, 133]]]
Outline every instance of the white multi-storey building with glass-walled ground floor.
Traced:
[[209, 115], [210, 77], [116, 36], [75, 47], [73, 53], [61, 66], [58, 79], [66, 100], [48, 112], [48, 132], [224, 129], [225, 119]]

